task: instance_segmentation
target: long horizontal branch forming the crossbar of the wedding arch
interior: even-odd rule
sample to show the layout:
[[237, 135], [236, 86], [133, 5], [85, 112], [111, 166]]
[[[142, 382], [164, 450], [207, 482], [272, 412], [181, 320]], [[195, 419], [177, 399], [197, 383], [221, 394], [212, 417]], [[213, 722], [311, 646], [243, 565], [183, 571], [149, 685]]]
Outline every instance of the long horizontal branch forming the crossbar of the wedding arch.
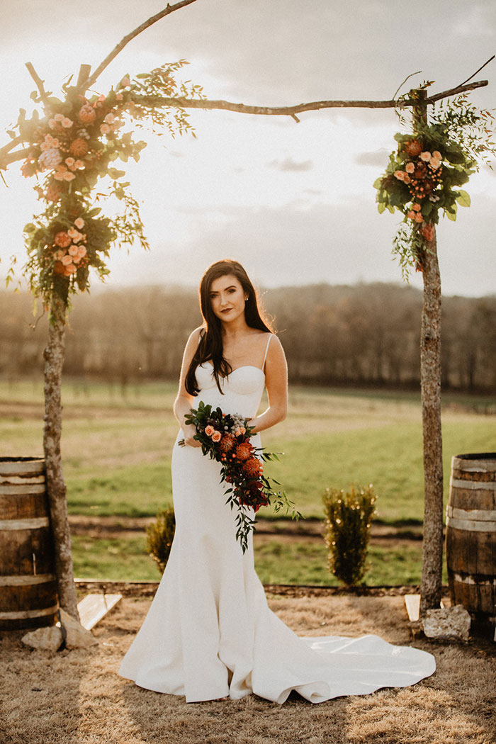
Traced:
[[[435, 103], [435, 101], [448, 96], [457, 95], [474, 88], [482, 88], [488, 84], [487, 80], [480, 80], [478, 83], [471, 83], [468, 86], [457, 86], [451, 90], [437, 93], [426, 99], [426, 103]], [[141, 96], [136, 99], [136, 103], [142, 103], [144, 106], [170, 106], [177, 109], [224, 109], [234, 111], [240, 114], [256, 114], [264, 116], [292, 116], [303, 111], [317, 111], [319, 109], [396, 109], [416, 106], [417, 100], [317, 100], [310, 103], [298, 103], [296, 106], [248, 106], [245, 103], [232, 103], [228, 100], [207, 100], [202, 98], [173, 98], [161, 96]]]

